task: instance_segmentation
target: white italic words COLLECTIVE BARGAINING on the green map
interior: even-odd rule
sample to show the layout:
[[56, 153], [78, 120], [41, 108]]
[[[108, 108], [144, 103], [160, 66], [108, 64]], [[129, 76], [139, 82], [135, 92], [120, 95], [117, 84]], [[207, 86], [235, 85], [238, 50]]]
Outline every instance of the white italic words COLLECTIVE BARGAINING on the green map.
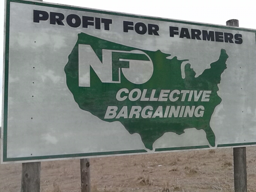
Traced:
[[[122, 88], [116, 93], [116, 100], [124, 101], [126, 99], [130, 101], [158, 101], [176, 102], [179, 98], [182, 102], [209, 102], [210, 94], [209, 90], [161, 90], [159, 96], [156, 95], [156, 89], [152, 89], [151, 92], [147, 89], [141, 91], [136, 88], [129, 91], [127, 88]], [[146, 97], [148, 95], [148, 97]], [[153, 108], [152, 106], [132, 106], [128, 110], [128, 106], [123, 106], [118, 112], [117, 106], [108, 106], [104, 119], [112, 118], [181, 118], [181, 117], [203, 117], [204, 106], [158, 106]]]

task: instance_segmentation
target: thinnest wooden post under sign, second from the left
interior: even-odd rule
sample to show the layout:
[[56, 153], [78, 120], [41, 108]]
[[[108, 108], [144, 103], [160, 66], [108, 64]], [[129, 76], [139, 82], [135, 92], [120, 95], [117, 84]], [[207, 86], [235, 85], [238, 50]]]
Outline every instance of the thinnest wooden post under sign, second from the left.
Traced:
[[89, 159], [80, 159], [80, 172], [81, 172], [81, 192], [90, 192], [91, 182], [90, 182]]

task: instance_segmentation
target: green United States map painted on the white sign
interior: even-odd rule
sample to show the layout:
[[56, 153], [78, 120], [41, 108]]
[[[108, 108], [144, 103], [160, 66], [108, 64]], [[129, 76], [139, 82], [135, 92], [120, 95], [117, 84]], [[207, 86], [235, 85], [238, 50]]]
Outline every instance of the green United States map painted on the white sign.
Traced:
[[[101, 62], [102, 50], [144, 52], [153, 63], [152, 76], [142, 84], [130, 82], [122, 70], [119, 77], [120, 68], [129, 68], [127, 60], [148, 58], [143, 54], [134, 54], [133, 58], [130, 54], [114, 52], [112, 78], [120, 78], [119, 83], [102, 82], [90, 68], [90, 86], [79, 86], [79, 45], [90, 46]], [[217, 91], [221, 74], [227, 68], [226, 51], [220, 50], [216, 62], [211, 63], [210, 68], [198, 77], [195, 77], [196, 72], [190, 68], [190, 64], [186, 64], [185, 78], [182, 78], [181, 64], [188, 60], [178, 60], [175, 56], [168, 59], [168, 56], [170, 54], [160, 50], [141, 50], [80, 33], [64, 69], [66, 83], [82, 110], [106, 122], [121, 122], [130, 134], [140, 134], [147, 149], [152, 150], [153, 143], [164, 133], [174, 132], [180, 135], [188, 128], [204, 130], [209, 144], [215, 146], [210, 120], [215, 107], [221, 102]], [[126, 59], [126, 62], [120, 62], [120, 58]]]

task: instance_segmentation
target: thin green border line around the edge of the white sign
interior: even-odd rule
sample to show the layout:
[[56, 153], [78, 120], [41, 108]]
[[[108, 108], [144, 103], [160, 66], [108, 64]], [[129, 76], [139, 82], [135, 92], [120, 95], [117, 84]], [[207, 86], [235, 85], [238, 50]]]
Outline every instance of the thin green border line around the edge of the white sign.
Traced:
[[[44, 7], [54, 7], [54, 8], [62, 8], [68, 10], [78, 10], [84, 12], [93, 12], [93, 13], [100, 13], [100, 14], [108, 14], [108, 15], [115, 15], [115, 16], [125, 16], [130, 18], [141, 18], [141, 19], [148, 19], [148, 20], [157, 20], [157, 21], [164, 21], [164, 22], [174, 22], [174, 23], [182, 23], [182, 24], [190, 24], [196, 26], [206, 26], [206, 27], [213, 27], [213, 28], [222, 28], [222, 29], [231, 29], [231, 30], [238, 30], [238, 31], [247, 31], [247, 32], [254, 32], [256, 35], [256, 30], [250, 30], [245, 28], [236, 28], [230, 26], [218, 26], [218, 25], [211, 25], [211, 24], [203, 24], [203, 23], [193, 23], [187, 21], [178, 21], [178, 20], [171, 20], [166, 18], [153, 18], [149, 16], [138, 16], [138, 15], [131, 15], [131, 14], [123, 14], [117, 12], [109, 12], [109, 11], [102, 11], [102, 10], [93, 10], [88, 8], [79, 8], [74, 6], [67, 6], [67, 5], [60, 5], [60, 4], [50, 4], [45, 2], [38, 2], [38, 1], [26, 1], [26, 0], [5, 0], [6, 6], [6, 31], [5, 31], [5, 59], [4, 59], [4, 114], [3, 114], [3, 156], [2, 162], [18, 162], [18, 161], [34, 161], [34, 160], [47, 160], [47, 159], [55, 159], [55, 158], [77, 158], [77, 157], [87, 157], [87, 156], [104, 156], [104, 155], [118, 155], [118, 154], [136, 154], [136, 153], [147, 153], [146, 150], [126, 150], [126, 151], [108, 151], [108, 152], [94, 152], [94, 153], [79, 153], [79, 154], [60, 154], [60, 155], [48, 155], [48, 156], [27, 156], [27, 157], [17, 157], [17, 158], [8, 158], [7, 157], [7, 123], [8, 123], [8, 72], [9, 72], [9, 38], [10, 38], [10, 3], [16, 2], [21, 4], [34, 4], [38, 6]], [[233, 144], [219, 144], [218, 147], [234, 147], [234, 146], [251, 146], [256, 145], [256, 142], [249, 142], [249, 143], [233, 143]], [[163, 152], [163, 151], [174, 151], [174, 150], [191, 150], [191, 149], [207, 149], [210, 148], [208, 145], [204, 146], [187, 146], [187, 147], [174, 147], [174, 148], [156, 148], [156, 152]]]

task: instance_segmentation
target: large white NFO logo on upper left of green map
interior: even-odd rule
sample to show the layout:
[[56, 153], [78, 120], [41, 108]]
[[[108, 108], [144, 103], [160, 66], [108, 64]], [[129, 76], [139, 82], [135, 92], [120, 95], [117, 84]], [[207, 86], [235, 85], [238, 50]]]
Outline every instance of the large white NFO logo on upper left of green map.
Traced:
[[102, 49], [102, 62], [90, 45], [78, 45], [78, 79], [80, 87], [90, 87], [90, 66], [103, 83], [121, 83], [121, 70], [134, 84], [143, 84], [153, 74], [151, 58], [140, 50]]

